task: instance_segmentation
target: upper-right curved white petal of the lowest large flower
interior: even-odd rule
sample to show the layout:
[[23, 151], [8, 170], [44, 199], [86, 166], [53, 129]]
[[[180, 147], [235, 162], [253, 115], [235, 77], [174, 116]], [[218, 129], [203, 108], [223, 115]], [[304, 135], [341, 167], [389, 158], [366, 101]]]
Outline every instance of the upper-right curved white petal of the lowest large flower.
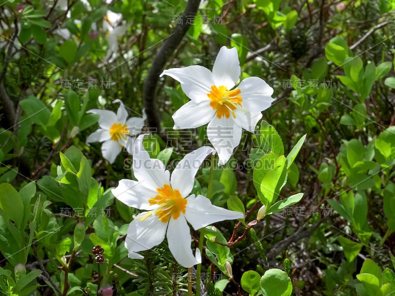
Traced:
[[187, 197], [194, 187], [195, 175], [200, 168], [201, 163], [208, 154], [215, 153], [211, 147], [200, 147], [184, 156], [177, 163], [176, 168], [171, 174], [171, 187], [178, 189], [182, 197]]

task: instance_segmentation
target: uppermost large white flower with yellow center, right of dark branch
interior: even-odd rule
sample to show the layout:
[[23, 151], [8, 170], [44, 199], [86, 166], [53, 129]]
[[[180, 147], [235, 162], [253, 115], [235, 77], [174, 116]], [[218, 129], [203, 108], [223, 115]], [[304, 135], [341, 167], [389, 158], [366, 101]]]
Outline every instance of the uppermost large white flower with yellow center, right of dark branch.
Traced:
[[225, 164], [241, 139], [242, 128], [253, 133], [261, 111], [274, 99], [273, 88], [258, 77], [248, 77], [232, 89], [240, 76], [236, 48], [222, 46], [212, 72], [202, 66], [164, 70], [181, 83], [191, 99], [173, 114], [174, 129], [196, 128], [208, 123], [207, 137]]

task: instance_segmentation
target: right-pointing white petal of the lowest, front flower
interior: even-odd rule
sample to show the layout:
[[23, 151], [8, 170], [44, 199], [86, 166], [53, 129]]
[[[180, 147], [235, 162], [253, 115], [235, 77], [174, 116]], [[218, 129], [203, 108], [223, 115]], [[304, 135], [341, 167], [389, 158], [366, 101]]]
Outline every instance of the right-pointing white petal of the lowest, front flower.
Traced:
[[202, 195], [195, 197], [192, 194], [187, 200], [185, 218], [195, 230], [219, 221], [244, 218], [241, 212], [213, 206], [211, 201]]

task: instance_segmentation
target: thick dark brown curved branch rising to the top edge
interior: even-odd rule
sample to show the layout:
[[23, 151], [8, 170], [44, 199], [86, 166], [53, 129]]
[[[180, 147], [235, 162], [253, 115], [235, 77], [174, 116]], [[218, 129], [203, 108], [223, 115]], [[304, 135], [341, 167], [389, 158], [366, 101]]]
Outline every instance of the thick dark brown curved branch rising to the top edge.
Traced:
[[156, 102], [155, 89], [158, 85], [159, 74], [163, 72], [168, 58], [176, 50], [188, 29], [191, 27], [191, 23], [187, 21], [187, 17], [188, 19], [191, 17], [195, 18], [199, 4], [199, 0], [188, 0], [187, 7], [181, 16], [180, 23], [176, 25], [173, 34], [167, 37], [165, 43], [159, 49], [144, 83], [143, 103], [148, 118], [148, 126], [156, 128], [158, 133], [160, 133], [160, 115]]

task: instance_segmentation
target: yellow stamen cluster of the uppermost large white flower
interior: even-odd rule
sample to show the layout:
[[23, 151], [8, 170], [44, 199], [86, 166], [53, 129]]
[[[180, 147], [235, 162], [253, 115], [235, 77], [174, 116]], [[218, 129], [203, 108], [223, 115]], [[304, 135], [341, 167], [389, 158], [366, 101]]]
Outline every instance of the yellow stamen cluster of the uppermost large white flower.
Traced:
[[226, 86], [211, 86], [211, 91], [207, 97], [211, 99], [210, 106], [212, 109], [217, 110], [217, 117], [225, 116], [229, 118], [232, 112], [233, 118], [236, 118], [235, 110], [241, 109], [241, 96], [240, 90], [228, 90]]

